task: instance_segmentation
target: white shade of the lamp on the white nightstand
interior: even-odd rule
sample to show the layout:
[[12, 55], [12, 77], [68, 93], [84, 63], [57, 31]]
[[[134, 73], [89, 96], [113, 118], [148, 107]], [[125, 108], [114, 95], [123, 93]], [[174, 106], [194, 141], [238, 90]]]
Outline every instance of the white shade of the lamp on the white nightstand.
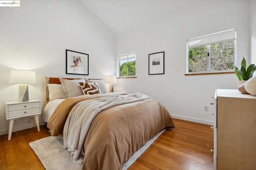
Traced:
[[36, 84], [36, 72], [28, 70], [11, 70], [11, 84]]

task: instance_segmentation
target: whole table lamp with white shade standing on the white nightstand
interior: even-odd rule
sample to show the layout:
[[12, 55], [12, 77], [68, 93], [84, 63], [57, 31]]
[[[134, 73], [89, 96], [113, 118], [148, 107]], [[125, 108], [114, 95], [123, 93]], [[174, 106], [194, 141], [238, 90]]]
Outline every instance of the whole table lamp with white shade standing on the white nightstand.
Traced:
[[29, 101], [27, 84], [36, 84], [36, 72], [28, 70], [11, 70], [9, 83], [23, 84], [19, 85], [18, 102]]

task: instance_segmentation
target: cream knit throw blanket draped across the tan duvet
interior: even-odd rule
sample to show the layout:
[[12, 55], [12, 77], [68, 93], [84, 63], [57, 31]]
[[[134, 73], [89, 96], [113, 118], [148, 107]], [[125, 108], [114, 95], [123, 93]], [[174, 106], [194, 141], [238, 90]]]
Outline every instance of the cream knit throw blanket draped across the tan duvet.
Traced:
[[[134, 93], [132, 95], [108, 95], [77, 103], [72, 109], [64, 125], [64, 147], [74, 154], [74, 162], [81, 164], [82, 148], [89, 127], [96, 115], [104, 109], [115, 105], [132, 103], [148, 99], [147, 95]], [[81, 154], [81, 155], [80, 155]]]

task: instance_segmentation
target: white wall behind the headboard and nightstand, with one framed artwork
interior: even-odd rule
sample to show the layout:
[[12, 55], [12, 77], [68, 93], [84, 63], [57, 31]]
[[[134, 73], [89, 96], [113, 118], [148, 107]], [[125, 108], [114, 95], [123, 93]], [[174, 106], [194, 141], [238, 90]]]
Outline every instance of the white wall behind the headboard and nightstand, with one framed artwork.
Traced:
[[[66, 49], [89, 54], [88, 76], [66, 75]], [[7, 126], [4, 102], [18, 100], [18, 85], [9, 84], [11, 69], [36, 71], [29, 94], [43, 106], [44, 76], [114, 75], [114, 56], [114, 33], [79, 0], [22, 0], [20, 7], [1, 7], [0, 134]], [[14, 131], [32, 127], [29, 120], [14, 121]]]

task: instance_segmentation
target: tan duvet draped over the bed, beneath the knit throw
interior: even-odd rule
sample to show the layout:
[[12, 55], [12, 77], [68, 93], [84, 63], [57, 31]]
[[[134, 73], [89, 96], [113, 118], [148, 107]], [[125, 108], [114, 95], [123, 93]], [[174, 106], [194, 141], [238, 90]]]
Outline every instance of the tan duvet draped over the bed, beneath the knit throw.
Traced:
[[[48, 121], [51, 135], [61, 133], [76, 103], [104, 95], [82, 95], [66, 99]], [[84, 170], [120, 170], [132, 154], [164, 128], [174, 128], [170, 113], [156, 99], [110, 107], [98, 113], [84, 141]]]

